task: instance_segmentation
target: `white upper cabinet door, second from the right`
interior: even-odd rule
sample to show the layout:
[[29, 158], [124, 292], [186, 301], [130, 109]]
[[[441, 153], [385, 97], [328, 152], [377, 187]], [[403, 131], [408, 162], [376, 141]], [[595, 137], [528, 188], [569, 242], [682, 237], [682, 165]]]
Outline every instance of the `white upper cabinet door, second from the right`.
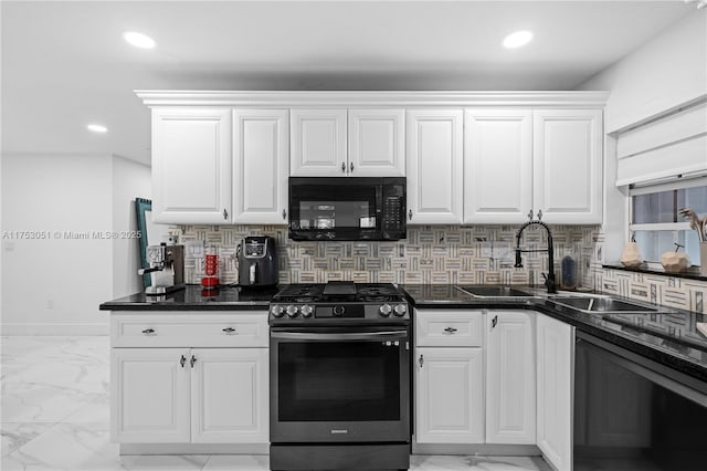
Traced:
[[464, 222], [521, 223], [532, 208], [532, 113], [464, 112]]

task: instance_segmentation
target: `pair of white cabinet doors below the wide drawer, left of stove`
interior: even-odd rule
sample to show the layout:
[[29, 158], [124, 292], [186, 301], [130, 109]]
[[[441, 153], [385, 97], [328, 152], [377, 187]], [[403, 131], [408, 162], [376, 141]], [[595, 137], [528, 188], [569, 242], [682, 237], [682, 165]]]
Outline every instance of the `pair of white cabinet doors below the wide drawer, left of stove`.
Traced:
[[267, 442], [267, 348], [114, 348], [115, 441]]

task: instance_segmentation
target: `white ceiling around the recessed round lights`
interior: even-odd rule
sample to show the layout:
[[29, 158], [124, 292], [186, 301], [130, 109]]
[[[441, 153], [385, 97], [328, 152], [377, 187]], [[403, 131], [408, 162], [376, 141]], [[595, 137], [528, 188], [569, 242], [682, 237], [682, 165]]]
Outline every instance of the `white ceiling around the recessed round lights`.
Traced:
[[[573, 90], [694, 11], [675, 0], [2, 1], [2, 150], [148, 164], [149, 111], [134, 90]], [[504, 50], [518, 29], [535, 40]], [[157, 48], [128, 45], [128, 30]]]

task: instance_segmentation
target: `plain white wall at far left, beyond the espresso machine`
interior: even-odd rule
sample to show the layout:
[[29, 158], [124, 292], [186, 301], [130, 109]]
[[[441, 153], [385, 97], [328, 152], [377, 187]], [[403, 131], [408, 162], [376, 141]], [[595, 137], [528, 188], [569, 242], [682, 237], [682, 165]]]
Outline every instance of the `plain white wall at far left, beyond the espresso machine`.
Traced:
[[[20, 231], [2, 240], [2, 334], [107, 334], [98, 304], [138, 291], [127, 273], [138, 279], [138, 253], [134, 241], [94, 231], [128, 229], [128, 198], [149, 198], [133, 193], [149, 190], [149, 169], [109, 155], [3, 155], [1, 164], [2, 230]], [[22, 231], [46, 238], [18, 239]]]

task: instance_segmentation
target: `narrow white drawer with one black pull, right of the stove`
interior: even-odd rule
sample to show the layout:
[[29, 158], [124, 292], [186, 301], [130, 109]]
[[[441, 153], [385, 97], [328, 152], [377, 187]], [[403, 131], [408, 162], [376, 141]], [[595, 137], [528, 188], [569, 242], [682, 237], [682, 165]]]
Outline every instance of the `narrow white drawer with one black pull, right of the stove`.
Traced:
[[481, 347], [484, 313], [460, 310], [415, 310], [415, 345]]

